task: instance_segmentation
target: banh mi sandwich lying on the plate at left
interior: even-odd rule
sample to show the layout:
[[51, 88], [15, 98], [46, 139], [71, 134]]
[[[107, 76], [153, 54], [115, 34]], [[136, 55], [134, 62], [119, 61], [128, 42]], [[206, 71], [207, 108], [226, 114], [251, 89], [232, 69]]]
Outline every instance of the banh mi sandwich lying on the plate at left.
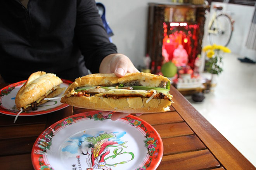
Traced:
[[19, 89], [15, 104], [19, 110], [36, 110], [38, 105], [44, 104], [65, 90], [60, 87], [62, 80], [52, 73], [37, 71], [32, 73], [26, 83]]

